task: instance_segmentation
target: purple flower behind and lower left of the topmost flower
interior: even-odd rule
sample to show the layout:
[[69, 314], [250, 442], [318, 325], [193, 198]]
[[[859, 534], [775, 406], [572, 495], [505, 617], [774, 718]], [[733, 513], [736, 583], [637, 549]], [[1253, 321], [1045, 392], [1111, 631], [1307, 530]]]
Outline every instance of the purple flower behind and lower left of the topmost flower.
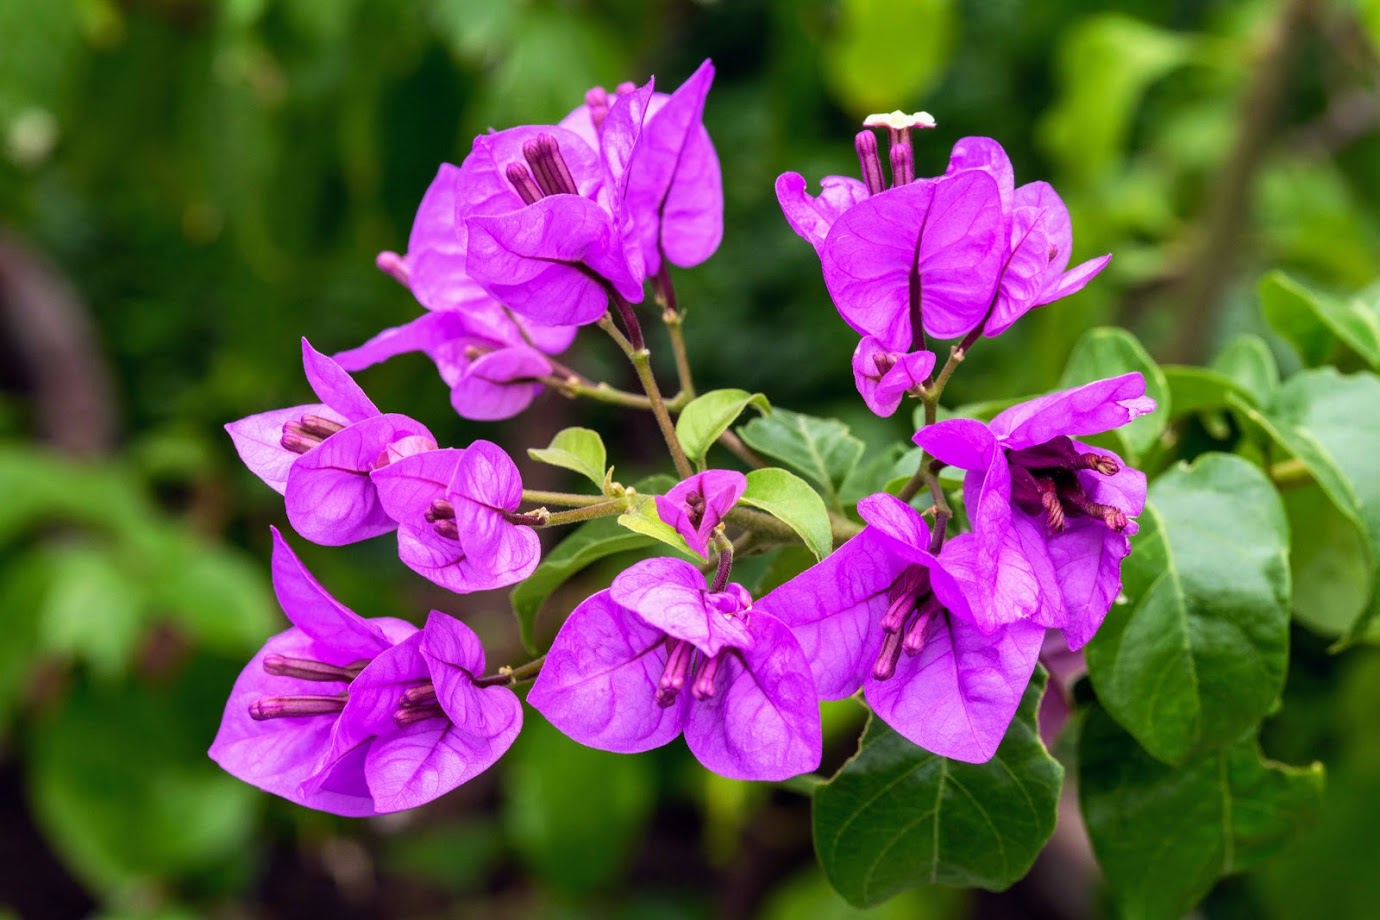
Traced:
[[443, 164], [413, 222], [407, 255], [382, 252], [378, 266], [406, 284], [429, 313], [384, 330], [335, 360], [357, 371], [406, 352], [432, 359], [462, 418], [494, 421], [527, 408], [552, 372], [546, 356], [570, 346], [577, 327], [515, 316], [465, 273], [466, 233], [455, 215], [460, 170]]

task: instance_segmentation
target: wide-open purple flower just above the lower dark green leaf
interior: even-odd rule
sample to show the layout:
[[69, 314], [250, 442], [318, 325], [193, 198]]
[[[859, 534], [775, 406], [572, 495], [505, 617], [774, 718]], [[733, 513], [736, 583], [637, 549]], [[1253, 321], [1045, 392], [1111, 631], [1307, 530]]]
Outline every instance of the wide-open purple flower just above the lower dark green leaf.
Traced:
[[926, 750], [992, 757], [1035, 670], [1045, 630], [972, 622], [981, 586], [970, 535], [936, 557], [925, 520], [891, 495], [858, 503], [861, 534], [758, 601], [795, 633], [824, 699], [862, 687], [872, 710]]

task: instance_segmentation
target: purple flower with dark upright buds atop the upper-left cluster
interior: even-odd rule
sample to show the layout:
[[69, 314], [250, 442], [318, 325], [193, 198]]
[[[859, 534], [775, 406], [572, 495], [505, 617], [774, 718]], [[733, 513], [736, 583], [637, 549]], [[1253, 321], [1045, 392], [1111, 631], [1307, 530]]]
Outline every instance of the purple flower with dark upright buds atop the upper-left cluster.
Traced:
[[646, 266], [627, 206], [651, 83], [620, 95], [599, 146], [556, 126], [480, 135], [455, 179], [465, 273], [513, 312], [584, 326], [642, 301]]

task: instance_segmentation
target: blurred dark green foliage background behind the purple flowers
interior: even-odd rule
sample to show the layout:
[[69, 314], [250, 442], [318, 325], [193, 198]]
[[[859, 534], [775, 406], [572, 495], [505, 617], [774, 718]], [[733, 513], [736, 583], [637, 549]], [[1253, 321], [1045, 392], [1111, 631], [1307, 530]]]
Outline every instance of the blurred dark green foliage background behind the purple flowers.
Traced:
[[[763, 390], [879, 447], [909, 434], [905, 412], [862, 411], [853, 338], [773, 194], [784, 170], [854, 174], [861, 116], [893, 108], [938, 119], [918, 172], [992, 135], [1018, 182], [1061, 192], [1075, 259], [1115, 254], [984, 342], [956, 401], [1049, 388], [1097, 323], [1201, 361], [1263, 331], [1268, 269], [1339, 292], [1380, 274], [1377, 46], [1376, 0], [0, 0], [0, 916], [854, 916], [814, 869], [807, 800], [679, 745], [606, 756], [529, 713], [495, 770], [377, 821], [221, 774], [204, 752], [224, 698], [283, 628], [268, 526], [284, 523], [221, 426], [304, 401], [299, 337], [330, 353], [420, 312], [373, 259], [404, 248], [475, 134], [555, 121], [593, 84], [669, 90], [705, 57], [726, 229], [676, 276], [701, 389]], [[617, 357], [585, 335], [567, 363], [632, 383]], [[443, 444], [520, 457], [584, 423], [624, 481], [658, 462], [644, 417], [548, 394], [465, 423], [421, 356], [360, 379]], [[523, 659], [504, 593], [439, 592], [389, 538], [293, 543], [362, 614], [436, 607], [491, 663]], [[1368, 916], [1377, 706], [1374, 654], [1296, 630], [1265, 749], [1323, 760], [1328, 807], [1206, 916]], [[831, 720], [838, 763], [857, 712]], [[1076, 817], [1058, 840], [1005, 895], [919, 890], [875, 916], [1098, 916]]]

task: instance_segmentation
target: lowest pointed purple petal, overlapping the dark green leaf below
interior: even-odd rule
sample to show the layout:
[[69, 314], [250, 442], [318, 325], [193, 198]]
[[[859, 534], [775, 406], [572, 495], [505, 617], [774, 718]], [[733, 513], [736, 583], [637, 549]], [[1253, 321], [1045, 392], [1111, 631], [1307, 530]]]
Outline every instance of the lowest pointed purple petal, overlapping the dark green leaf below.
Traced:
[[1017, 622], [984, 636], [956, 617], [938, 615], [914, 658], [901, 657], [890, 680], [869, 680], [868, 705], [920, 748], [966, 763], [996, 753], [1035, 672], [1045, 629]]

